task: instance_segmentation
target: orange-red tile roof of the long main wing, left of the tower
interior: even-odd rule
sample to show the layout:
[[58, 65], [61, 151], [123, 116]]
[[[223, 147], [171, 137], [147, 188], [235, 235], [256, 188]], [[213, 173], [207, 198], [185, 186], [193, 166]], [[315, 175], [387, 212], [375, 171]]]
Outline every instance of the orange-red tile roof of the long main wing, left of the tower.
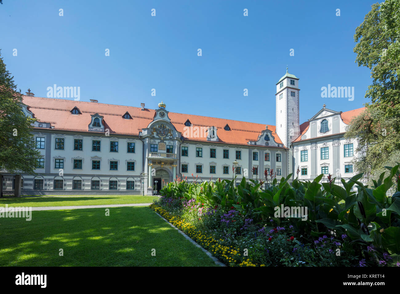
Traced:
[[[139, 135], [143, 128], [147, 128], [152, 122], [155, 110], [140, 107], [120, 106], [103, 104], [96, 102], [83, 102], [74, 100], [63, 100], [56, 98], [41, 98], [23, 96], [23, 103], [29, 106], [29, 110], [41, 122], [50, 122], [55, 130], [68, 130], [78, 132], [88, 132], [88, 125], [91, 122], [90, 114], [98, 113], [104, 116], [104, 127], [110, 130], [110, 134]], [[73, 115], [70, 113], [72, 108], [77, 107], [82, 114]], [[129, 112], [133, 119], [126, 120], [122, 116]], [[252, 122], [241, 122], [238, 120], [227, 120], [222, 118], [212, 118], [192, 114], [181, 114], [175, 112], [168, 113], [171, 123], [178, 132], [184, 134], [184, 123], [190, 120], [195, 126], [215, 126], [217, 129], [218, 143], [248, 145], [248, 141], [256, 141], [265, 124]], [[230, 131], [224, 130], [228, 124]], [[268, 125], [268, 130], [272, 132], [275, 141], [282, 144], [279, 136], [275, 133], [275, 126]], [[186, 138], [185, 138], [186, 139]], [[187, 140], [192, 140], [187, 138]], [[207, 141], [206, 138], [196, 138], [195, 141]]]

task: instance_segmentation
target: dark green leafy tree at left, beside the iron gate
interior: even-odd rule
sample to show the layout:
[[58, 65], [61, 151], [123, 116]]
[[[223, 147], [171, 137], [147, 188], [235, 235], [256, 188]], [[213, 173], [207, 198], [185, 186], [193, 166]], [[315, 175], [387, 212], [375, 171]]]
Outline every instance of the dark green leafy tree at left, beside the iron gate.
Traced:
[[21, 90], [6, 69], [0, 50], [0, 170], [34, 174], [40, 152], [35, 149], [32, 123], [21, 108]]

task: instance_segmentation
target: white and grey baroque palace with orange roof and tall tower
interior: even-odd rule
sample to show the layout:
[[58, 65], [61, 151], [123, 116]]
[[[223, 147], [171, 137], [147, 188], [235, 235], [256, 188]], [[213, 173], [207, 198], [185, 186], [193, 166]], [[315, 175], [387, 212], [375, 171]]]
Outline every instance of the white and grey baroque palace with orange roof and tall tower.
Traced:
[[[312, 180], [354, 175], [356, 141], [343, 135], [364, 108], [324, 107], [299, 122], [298, 78], [276, 84], [276, 126], [158, 109], [23, 96], [23, 111], [36, 118], [34, 140], [42, 158], [37, 175], [22, 174], [22, 194], [145, 194], [176, 178], [188, 181]], [[237, 164], [234, 173], [233, 165]], [[193, 178], [192, 178], [193, 174]], [[197, 178], [196, 178], [197, 177]], [[326, 177], [325, 177], [326, 178]]]

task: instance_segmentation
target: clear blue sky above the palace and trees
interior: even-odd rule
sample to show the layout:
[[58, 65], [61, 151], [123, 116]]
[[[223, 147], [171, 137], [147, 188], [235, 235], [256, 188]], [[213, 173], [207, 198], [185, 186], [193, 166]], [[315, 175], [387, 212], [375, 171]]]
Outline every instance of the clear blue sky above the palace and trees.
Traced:
[[[354, 63], [353, 36], [373, 3], [3, 0], [0, 49], [23, 93], [46, 97], [57, 84], [80, 87], [81, 101], [163, 100], [172, 112], [272, 125], [288, 65], [300, 78], [301, 123], [324, 103], [347, 111], [368, 102], [370, 70]], [[354, 87], [354, 100], [321, 98], [328, 84]]]

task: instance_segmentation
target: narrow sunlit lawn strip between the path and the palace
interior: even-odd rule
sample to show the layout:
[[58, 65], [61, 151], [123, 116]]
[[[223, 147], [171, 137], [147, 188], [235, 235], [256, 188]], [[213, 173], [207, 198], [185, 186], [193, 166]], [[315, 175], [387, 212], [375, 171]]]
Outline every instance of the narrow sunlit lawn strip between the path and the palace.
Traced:
[[157, 196], [82, 196], [0, 198], [0, 206], [70, 206], [152, 203]]

